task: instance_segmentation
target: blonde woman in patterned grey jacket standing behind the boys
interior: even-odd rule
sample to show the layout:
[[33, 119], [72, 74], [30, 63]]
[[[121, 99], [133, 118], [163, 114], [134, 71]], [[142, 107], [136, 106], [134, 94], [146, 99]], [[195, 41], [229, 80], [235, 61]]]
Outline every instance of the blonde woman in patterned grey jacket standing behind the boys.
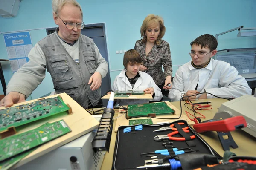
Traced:
[[[141, 40], [137, 40], [134, 49], [140, 53], [142, 63], [140, 71], [146, 72], [153, 78], [154, 82], [161, 89], [172, 88], [172, 60], [169, 43], [162, 40], [166, 28], [163, 18], [149, 14], [140, 28]], [[164, 72], [162, 70], [162, 66]], [[169, 85], [169, 86], [168, 86]], [[160, 100], [162, 101], [163, 98]]]

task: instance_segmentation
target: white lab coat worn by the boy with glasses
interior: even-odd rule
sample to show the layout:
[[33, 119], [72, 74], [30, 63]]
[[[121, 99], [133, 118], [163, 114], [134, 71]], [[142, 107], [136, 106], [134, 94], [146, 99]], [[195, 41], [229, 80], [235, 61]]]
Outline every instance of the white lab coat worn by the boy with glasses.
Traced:
[[[213, 95], [229, 98], [238, 98], [242, 95], [251, 95], [252, 90], [244, 77], [238, 75], [235, 67], [220, 60], [211, 59], [208, 66], [196, 69], [191, 61], [181, 66], [173, 78], [172, 89], [168, 97], [171, 101], [180, 101], [181, 94], [188, 90], [195, 90], [198, 84], [198, 92], [209, 92]], [[207, 94], [207, 98], [215, 98]], [[199, 98], [200, 95], [197, 95]]]

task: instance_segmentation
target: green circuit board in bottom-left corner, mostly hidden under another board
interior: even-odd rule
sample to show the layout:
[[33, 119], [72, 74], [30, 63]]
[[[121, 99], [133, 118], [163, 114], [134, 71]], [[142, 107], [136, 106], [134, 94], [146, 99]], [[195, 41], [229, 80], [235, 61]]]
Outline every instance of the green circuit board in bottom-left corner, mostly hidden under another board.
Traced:
[[0, 170], [8, 170], [10, 167], [17, 164], [22, 158], [29, 155], [29, 153], [32, 153], [35, 149], [28, 150], [26, 152], [23, 152], [16, 156], [13, 156], [12, 158], [6, 159], [5, 161], [1, 161], [0, 162]]

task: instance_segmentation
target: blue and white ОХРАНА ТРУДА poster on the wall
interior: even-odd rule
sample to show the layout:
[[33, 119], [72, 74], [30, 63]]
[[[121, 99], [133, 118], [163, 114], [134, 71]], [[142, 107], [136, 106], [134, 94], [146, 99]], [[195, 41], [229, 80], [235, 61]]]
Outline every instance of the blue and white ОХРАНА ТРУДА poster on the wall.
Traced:
[[17, 72], [20, 67], [29, 61], [28, 54], [32, 49], [30, 33], [9, 33], [3, 34], [3, 37], [5, 40], [12, 72]]

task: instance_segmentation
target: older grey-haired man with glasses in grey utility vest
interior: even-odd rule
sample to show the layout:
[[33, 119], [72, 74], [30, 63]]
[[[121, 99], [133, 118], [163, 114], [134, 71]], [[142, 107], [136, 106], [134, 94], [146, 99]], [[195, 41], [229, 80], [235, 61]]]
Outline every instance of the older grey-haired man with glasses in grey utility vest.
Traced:
[[100, 98], [101, 79], [108, 72], [108, 63], [93, 40], [81, 35], [81, 6], [76, 0], [52, 0], [52, 9], [58, 28], [31, 49], [29, 62], [12, 76], [6, 89], [8, 95], [0, 106], [25, 101], [43, 81], [46, 69], [55, 92], [66, 92], [82, 107]]

